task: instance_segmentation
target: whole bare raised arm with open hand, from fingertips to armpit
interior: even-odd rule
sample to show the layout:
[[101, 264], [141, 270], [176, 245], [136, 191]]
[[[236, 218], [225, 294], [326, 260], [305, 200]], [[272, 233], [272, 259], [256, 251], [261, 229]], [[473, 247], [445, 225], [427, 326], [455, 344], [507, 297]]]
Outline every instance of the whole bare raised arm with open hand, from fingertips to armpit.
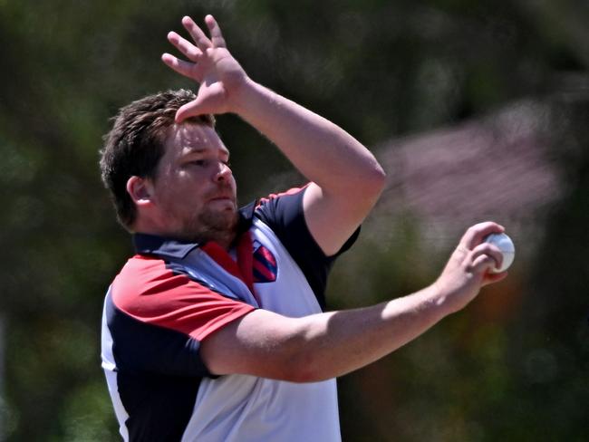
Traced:
[[202, 113], [237, 113], [282, 150], [312, 184], [304, 216], [325, 255], [335, 254], [372, 209], [384, 172], [372, 153], [350, 134], [312, 111], [252, 81], [227, 51], [215, 19], [205, 19], [210, 37], [189, 17], [182, 24], [194, 43], [169, 33], [188, 61], [164, 54], [172, 69], [200, 86], [198, 97], [179, 109], [177, 120]]

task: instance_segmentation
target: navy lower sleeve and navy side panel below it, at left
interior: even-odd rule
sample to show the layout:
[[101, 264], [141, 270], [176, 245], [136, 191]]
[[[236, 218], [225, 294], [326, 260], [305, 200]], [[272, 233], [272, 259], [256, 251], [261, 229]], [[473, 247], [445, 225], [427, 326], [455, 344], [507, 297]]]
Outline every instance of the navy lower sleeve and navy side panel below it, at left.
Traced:
[[112, 303], [111, 295], [106, 316], [130, 440], [179, 441], [200, 380], [210, 376], [198, 358], [198, 341], [132, 318]]

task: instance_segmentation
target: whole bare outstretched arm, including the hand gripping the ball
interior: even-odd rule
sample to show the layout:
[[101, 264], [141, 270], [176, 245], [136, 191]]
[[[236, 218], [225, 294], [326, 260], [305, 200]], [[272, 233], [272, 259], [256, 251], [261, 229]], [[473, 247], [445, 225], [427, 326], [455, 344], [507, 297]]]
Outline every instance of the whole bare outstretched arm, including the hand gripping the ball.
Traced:
[[472, 226], [439, 279], [418, 293], [362, 309], [286, 318], [256, 310], [202, 342], [208, 369], [265, 378], [314, 382], [359, 369], [418, 337], [467, 305], [481, 286], [507, 273], [489, 274], [502, 255], [483, 243], [502, 232], [495, 223]]

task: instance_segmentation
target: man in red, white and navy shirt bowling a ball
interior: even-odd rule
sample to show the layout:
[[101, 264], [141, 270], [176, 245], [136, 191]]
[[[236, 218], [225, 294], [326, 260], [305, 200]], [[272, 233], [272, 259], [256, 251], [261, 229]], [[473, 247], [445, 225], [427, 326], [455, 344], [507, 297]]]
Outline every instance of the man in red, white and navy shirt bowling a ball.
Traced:
[[[342, 129], [247, 77], [215, 19], [169, 33], [197, 81], [121, 109], [102, 178], [137, 255], [107, 293], [102, 367], [125, 440], [340, 440], [334, 378], [417, 337], [506, 274], [495, 223], [468, 229], [436, 283], [372, 307], [322, 312], [333, 259], [384, 186]], [[212, 114], [234, 112], [309, 179], [237, 210]]]

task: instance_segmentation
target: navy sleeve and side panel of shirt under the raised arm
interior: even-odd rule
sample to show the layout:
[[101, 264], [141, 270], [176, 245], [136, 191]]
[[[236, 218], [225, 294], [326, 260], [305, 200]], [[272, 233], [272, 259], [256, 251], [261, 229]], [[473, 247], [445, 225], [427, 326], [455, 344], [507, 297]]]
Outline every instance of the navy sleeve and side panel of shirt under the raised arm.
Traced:
[[325, 310], [327, 275], [335, 258], [353, 245], [360, 233], [360, 228], [353, 233], [337, 254], [325, 256], [304, 220], [304, 191], [290, 195], [283, 194], [265, 201], [257, 208], [256, 216], [264, 221], [285, 245], [294, 262], [303, 271], [319, 305]]

